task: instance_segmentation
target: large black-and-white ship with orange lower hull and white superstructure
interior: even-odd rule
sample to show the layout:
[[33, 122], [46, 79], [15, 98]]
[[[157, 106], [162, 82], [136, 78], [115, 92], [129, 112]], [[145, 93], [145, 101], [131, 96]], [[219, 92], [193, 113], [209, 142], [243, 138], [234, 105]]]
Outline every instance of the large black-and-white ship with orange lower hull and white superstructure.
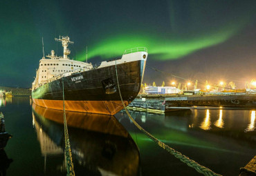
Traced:
[[[99, 65], [75, 61], [68, 55], [69, 37], [55, 39], [62, 42], [63, 57], [52, 50], [48, 59], [39, 61], [39, 68], [32, 86], [33, 102], [38, 106], [65, 110], [115, 115], [133, 101], [143, 81], [147, 49], [144, 47], [125, 50], [120, 59], [102, 61]], [[118, 72], [118, 81], [116, 76]], [[64, 93], [63, 93], [64, 92]]]

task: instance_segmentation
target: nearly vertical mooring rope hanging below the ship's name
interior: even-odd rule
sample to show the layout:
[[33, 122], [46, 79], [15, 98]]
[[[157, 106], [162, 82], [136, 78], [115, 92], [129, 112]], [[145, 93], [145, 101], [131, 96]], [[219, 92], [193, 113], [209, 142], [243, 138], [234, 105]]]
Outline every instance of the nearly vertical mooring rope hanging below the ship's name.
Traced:
[[65, 135], [65, 156], [66, 156], [66, 175], [75, 175], [72, 162], [71, 146], [68, 137], [68, 126], [66, 125], [65, 99], [64, 99], [64, 77], [62, 77], [62, 92], [63, 92], [63, 111], [64, 111], [64, 135]]

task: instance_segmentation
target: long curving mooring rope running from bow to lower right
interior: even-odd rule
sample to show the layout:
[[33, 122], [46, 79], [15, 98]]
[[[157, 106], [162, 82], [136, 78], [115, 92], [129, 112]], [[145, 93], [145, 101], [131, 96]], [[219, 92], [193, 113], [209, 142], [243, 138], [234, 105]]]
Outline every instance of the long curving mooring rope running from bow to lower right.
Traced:
[[178, 151], [174, 150], [173, 148], [170, 148], [170, 146], [168, 146], [167, 144], [163, 143], [162, 141], [160, 141], [159, 139], [157, 139], [156, 137], [154, 137], [153, 135], [151, 135], [150, 133], [148, 133], [144, 128], [142, 128], [139, 124], [137, 124], [137, 122], [131, 117], [131, 115], [129, 114], [127, 108], [125, 107], [125, 103], [122, 100], [122, 95], [120, 92], [120, 86], [119, 86], [119, 81], [118, 81], [118, 69], [116, 66], [116, 79], [117, 79], [117, 83], [118, 83], [118, 91], [119, 91], [119, 95], [120, 95], [120, 99], [122, 101], [122, 106], [124, 106], [125, 108], [125, 112], [127, 113], [129, 119], [131, 119], [131, 121], [134, 122], [134, 125], [141, 131], [143, 131], [143, 133], [145, 133], [145, 135], [147, 135], [147, 137], [149, 137], [150, 139], [152, 139], [154, 142], [156, 142], [156, 144], [158, 144], [158, 146], [160, 146], [161, 148], [167, 150], [170, 154], [174, 155], [174, 157], [178, 158], [181, 162], [187, 164], [188, 166], [194, 168], [198, 173], [201, 173], [203, 175], [208, 175], [208, 176], [221, 176], [217, 173], [214, 173], [212, 170], [210, 170], [209, 168], [205, 168], [205, 166], [201, 166], [200, 164], [198, 164], [197, 162], [195, 162], [194, 160], [190, 159], [189, 157], [186, 157], [185, 155], [183, 155], [182, 153], [179, 153]]

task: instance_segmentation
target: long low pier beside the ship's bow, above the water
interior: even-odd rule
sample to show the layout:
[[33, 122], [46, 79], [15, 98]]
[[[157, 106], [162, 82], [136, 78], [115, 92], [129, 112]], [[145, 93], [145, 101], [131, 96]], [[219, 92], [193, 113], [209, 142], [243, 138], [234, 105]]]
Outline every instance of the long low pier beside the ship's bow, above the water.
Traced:
[[256, 95], [192, 95], [163, 97], [154, 99], [134, 99], [127, 107], [130, 110], [140, 110], [152, 113], [165, 113], [173, 110], [231, 108], [248, 109], [256, 107]]

